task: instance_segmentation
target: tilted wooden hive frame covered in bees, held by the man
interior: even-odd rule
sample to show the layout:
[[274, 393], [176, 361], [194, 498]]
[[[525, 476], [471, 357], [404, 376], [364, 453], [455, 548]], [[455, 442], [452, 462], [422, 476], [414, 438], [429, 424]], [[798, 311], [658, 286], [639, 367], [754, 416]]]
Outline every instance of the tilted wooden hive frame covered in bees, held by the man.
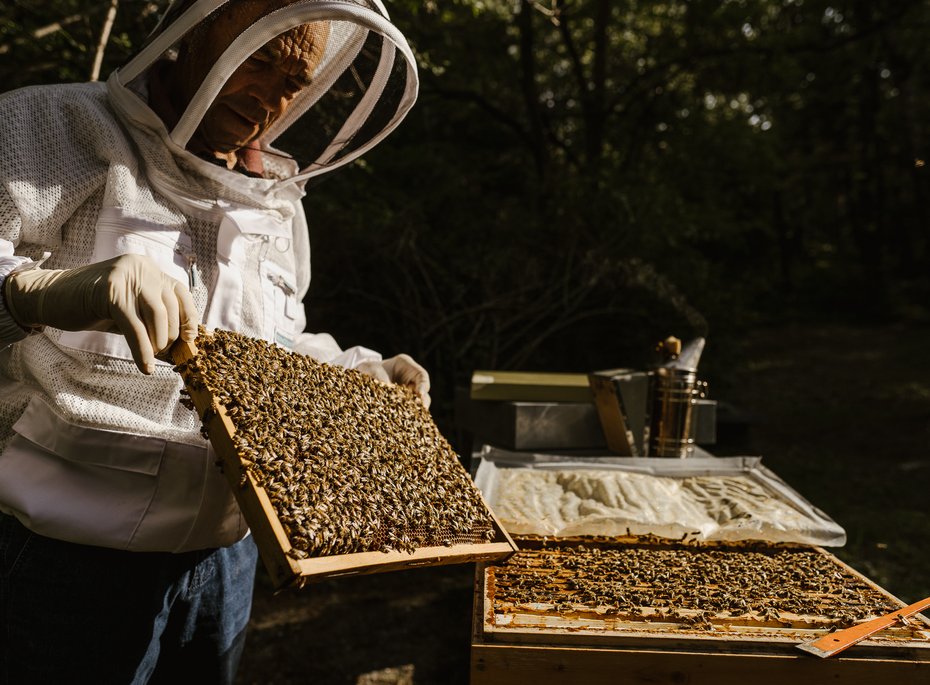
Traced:
[[515, 551], [411, 391], [227, 331], [172, 350], [277, 587]]

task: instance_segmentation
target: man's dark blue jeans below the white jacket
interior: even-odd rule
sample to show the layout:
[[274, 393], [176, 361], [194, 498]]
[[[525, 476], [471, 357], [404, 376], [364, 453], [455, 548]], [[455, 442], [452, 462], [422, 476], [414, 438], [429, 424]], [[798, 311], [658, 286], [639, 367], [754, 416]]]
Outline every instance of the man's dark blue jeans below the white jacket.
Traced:
[[0, 683], [232, 683], [258, 552], [182, 554], [32, 533], [0, 514]]

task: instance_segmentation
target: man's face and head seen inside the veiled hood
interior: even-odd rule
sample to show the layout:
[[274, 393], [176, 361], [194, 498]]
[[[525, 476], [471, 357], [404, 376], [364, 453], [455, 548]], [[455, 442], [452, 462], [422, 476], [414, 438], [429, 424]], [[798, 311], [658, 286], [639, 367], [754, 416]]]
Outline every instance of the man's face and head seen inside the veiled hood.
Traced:
[[[187, 102], [222, 52], [267, 12], [293, 0], [241, 0], [182, 47], [178, 73]], [[204, 114], [188, 147], [219, 155], [258, 140], [302, 88], [323, 58], [329, 24], [314, 22], [269, 41], [243, 62]]]

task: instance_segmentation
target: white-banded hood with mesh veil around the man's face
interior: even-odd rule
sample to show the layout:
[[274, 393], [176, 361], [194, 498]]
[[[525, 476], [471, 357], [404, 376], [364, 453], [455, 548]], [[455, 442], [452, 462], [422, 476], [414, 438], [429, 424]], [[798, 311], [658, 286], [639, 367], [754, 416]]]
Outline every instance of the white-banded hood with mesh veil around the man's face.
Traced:
[[[268, 12], [232, 40], [168, 131], [139, 95], [140, 89], [130, 86], [144, 82], [157, 61], [172, 59], [185, 34], [213, 12], [235, 2], [197, 0], [183, 12], [178, 7], [185, 3], [175, 2], [150, 42], [109, 79], [111, 100], [124, 120], [150, 130], [161, 127], [161, 137], [176, 157], [193, 156], [186, 150], [188, 142], [240, 65], [274, 37], [311, 22], [329, 23], [326, 47], [311, 84], [261, 138], [261, 148], [272, 167], [282, 166], [283, 153], [272, 144], [285, 133], [282, 147], [296, 161], [284, 165], [291, 167], [288, 173], [278, 174], [286, 179], [269, 185], [278, 186], [276, 190], [292, 184], [302, 188], [307, 179], [358, 158], [387, 136], [413, 105], [418, 88], [416, 62], [381, 2], [297, 0]], [[192, 164], [189, 159], [179, 161], [185, 166]]]

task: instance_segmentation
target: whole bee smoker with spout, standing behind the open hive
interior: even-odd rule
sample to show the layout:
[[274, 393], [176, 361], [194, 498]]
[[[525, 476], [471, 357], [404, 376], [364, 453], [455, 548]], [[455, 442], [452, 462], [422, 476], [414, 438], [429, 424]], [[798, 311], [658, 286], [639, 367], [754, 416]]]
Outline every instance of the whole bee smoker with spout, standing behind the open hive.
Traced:
[[707, 395], [707, 383], [697, 379], [697, 362], [703, 349], [703, 338], [692, 341], [684, 352], [678, 338], [669, 337], [658, 345], [664, 361], [650, 374], [650, 457], [685, 458], [694, 454], [694, 408]]

